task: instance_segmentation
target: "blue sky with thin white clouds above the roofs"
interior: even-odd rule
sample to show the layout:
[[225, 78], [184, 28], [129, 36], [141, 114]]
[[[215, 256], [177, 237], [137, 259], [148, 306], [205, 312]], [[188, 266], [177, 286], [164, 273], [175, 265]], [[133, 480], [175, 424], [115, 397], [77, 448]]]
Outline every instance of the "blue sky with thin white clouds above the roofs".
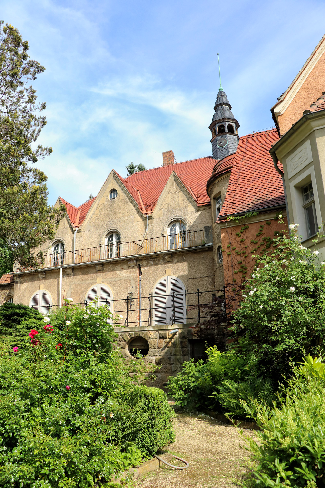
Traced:
[[222, 84], [240, 135], [273, 125], [270, 107], [324, 35], [324, 1], [2, 0], [1, 18], [46, 71], [37, 163], [49, 203], [80, 205], [112, 168], [211, 155], [208, 126]]

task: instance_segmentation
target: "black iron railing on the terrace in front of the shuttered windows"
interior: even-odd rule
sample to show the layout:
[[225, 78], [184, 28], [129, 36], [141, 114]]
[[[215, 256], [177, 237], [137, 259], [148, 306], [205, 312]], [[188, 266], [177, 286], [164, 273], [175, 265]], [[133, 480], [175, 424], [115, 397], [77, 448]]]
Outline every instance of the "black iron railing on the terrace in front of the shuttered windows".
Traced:
[[[220, 293], [217, 295], [217, 293]], [[184, 298], [182, 305], [175, 304], [175, 299], [177, 297], [182, 296]], [[200, 300], [200, 297], [203, 296], [203, 300]], [[154, 299], [156, 298], [155, 295], [149, 293], [148, 297], [142, 297], [142, 303], [145, 304], [145, 299], [148, 300], [147, 305], [141, 307], [141, 309], [135, 307], [135, 303], [137, 302], [137, 297], [132, 297], [127, 295], [124, 299], [119, 300], [111, 300], [109, 301], [107, 298], [105, 300], [95, 300], [89, 302], [85, 300], [82, 303], [74, 304], [79, 305], [87, 309], [90, 305], [109, 305], [112, 310], [113, 317], [118, 317], [117, 321], [113, 321], [116, 326], [136, 326], [140, 325], [140, 314], [141, 311], [142, 316], [142, 323], [150, 325], [168, 325], [168, 324], [177, 324], [177, 323], [184, 323], [184, 324], [199, 324], [201, 322], [206, 322], [214, 319], [225, 319], [226, 318], [226, 307], [225, 307], [225, 290], [224, 287], [220, 290], [207, 290], [202, 291], [198, 288], [195, 292], [184, 292], [184, 293], [171, 293], [170, 295], [157, 295], [160, 299], [162, 297], [171, 297], [171, 305], [170, 306], [154, 306]], [[167, 303], [167, 300], [166, 300]], [[112, 306], [113, 305], [113, 306]], [[51, 310], [54, 308], [58, 308], [60, 305], [51, 305], [48, 304], [48, 313], [51, 313]], [[61, 305], [62, 307], [69, 307], [70, 305]], [[44, 308], [44, 305], [40, 307], [32, 308]], [[177, 317], [177, 310], [180, 308], [185, 308], [185, 316], [183, 321], [178, 322], [176, 320]], [[155, 320], [154, 313], [155, 311], [166, 310], [166, 317], [165, 321], [161, 319]], [[122, 317], [120, 317], [122, 315]], [[169, 317], [169, 318], [168, 318]], [[164, 322], [164, 324], [163, 324]]]

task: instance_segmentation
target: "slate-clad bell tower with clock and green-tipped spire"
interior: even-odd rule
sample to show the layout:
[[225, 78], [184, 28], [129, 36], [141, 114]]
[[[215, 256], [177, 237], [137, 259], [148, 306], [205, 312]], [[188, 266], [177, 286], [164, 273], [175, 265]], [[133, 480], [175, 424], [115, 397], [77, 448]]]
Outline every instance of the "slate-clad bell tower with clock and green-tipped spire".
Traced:
[[215, 113], [213, 114], [209, 129], [212, 135], [212, 157], [214, 159], [223, 159], [225, 156], [234, 154], [237, 151], [239, 123], [231, 112], [231, 105], [221, 86], [219, 53], [218, 64], [220, 88], [214, 104]]

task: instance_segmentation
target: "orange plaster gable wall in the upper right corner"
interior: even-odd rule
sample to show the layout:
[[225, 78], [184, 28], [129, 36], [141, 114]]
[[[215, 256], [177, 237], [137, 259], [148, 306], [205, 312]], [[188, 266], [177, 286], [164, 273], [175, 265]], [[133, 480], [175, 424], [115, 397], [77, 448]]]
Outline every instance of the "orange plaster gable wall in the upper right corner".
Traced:
[[325, 91], [325, 53], [314, 66], [309, 76], [295, 95], [284, 114], [279, 115], [280, 133], [283, 134], [297, 122], [306, 109]]

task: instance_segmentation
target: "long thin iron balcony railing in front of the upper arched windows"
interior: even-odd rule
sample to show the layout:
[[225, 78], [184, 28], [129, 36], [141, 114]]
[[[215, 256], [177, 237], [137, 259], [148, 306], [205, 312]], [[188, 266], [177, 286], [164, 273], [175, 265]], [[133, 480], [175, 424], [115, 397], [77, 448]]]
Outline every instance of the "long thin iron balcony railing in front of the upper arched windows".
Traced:
[[91, 263], [107, 259], [126, 258], [155, 252], [187, 249], [204, 245], [204, 231], [195, 230], [170, 236], [153, 237], [142, 241], [88, 247], [76, 251], [45, 254], [39, 268], [60, 267], [67, 264]]

